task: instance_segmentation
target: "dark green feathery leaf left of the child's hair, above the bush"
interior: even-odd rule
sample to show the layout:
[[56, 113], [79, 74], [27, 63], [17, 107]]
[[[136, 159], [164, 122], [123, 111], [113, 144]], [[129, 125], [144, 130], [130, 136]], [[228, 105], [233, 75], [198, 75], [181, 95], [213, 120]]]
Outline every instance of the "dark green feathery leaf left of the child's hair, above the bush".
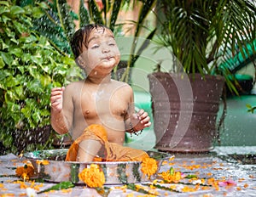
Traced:
[[[72, 54], [69, 40], [75, 31], [73, 20], [78, 16], [73, 13], [66, 0], [35, 1], [26, 3], [32, 6], [38, 5], [42, 16], [32, 20], [33, 29], [49, 39], [49, 42], [65, 55]], [[86, 11], [86, 10], [85, 10]], [[87, 13], [85, 13], [87, 14]], [[88, 20], [85, 20], [88, 21]]]

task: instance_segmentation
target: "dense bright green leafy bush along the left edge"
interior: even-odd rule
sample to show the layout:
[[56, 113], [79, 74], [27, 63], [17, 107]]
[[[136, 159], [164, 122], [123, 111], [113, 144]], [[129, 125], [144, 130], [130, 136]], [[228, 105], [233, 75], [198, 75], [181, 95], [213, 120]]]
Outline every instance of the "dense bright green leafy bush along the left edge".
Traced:
[[47, 148], [50, 89], [78, 75], [75, 63], [32, 31], [32, 19], [42, 16], [40, 8], [1, 1], [0, 10], [0, 146], [6, 150], [1, 154]]

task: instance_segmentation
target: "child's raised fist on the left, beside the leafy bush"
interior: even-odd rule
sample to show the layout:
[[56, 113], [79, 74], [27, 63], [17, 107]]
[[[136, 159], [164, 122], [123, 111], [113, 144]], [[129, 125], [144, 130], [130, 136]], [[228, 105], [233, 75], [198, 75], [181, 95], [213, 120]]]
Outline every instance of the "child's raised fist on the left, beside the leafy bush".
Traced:
[[61, 112], [62, 110], [62, 98], [65, 87], [54, 87], [50, 93], [50, 104], [53, 110]]

